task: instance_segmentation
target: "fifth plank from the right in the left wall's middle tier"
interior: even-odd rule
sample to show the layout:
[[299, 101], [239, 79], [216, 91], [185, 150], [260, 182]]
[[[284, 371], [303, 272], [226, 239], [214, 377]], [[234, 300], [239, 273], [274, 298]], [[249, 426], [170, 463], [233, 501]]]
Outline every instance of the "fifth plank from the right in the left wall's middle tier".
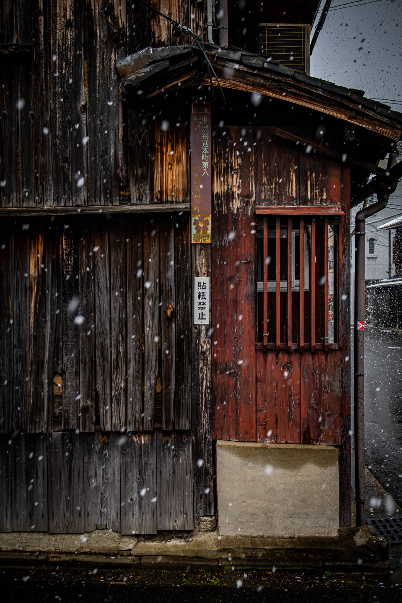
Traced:
[[112, 431], [126, 426], [127, 297], [126, 231], [123, 218], [110, 225], [110, 301], [112, 309]]

